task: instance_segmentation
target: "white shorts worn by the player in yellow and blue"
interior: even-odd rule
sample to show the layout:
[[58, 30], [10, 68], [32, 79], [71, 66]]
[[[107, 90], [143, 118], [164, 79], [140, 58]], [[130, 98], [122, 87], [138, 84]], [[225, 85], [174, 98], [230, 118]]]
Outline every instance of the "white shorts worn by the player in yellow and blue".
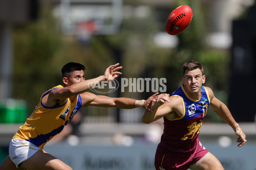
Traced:
[[17, 168], [34, 153], [40, 150], [35, 144], [23, 139], [12, 139], [9, 146], [9, 156]]

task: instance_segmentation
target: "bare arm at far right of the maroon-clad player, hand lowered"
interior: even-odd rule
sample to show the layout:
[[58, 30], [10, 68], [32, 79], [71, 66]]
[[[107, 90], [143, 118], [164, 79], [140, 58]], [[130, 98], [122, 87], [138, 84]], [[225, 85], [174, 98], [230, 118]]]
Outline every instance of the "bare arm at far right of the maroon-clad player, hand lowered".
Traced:
[[209, 92], [209, 97], [211, 99], [210, 106], [212, 107], [212, 110], [215, 113], [217, 113], [217, 115], [222, 120], [224, 120], [224, 122], [226, 122], [228, 125], [230, 125], [233, 128], [233, 130], [235, 131], [236, 135], [239, 136], [239, 138], [236, 141], [236, 142], [239, 142], [238, 146], [239, 147], [243, 146], [245, 144], [245, 142], [246, 142], [245, 134], [243, 133], [243, 131], [239, 127], [238, 123], [233, 118], [233, 116], [230, 113], [230, 111], [227, 108], [227, 106], [214, 96], [212, 90], [210, 88], [207, 88], [207, 90]]

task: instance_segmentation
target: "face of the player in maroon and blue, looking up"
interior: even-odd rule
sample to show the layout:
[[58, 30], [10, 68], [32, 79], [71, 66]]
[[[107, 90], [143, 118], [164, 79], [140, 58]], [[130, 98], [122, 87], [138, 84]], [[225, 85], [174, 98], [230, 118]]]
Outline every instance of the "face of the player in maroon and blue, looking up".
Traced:
[[201, 92], [202, 84], [205, 82], [205, 75], [202, 75], [200, 68], [191, 71], [186, 70], [182, 80], [188, 94], [198, 94]]

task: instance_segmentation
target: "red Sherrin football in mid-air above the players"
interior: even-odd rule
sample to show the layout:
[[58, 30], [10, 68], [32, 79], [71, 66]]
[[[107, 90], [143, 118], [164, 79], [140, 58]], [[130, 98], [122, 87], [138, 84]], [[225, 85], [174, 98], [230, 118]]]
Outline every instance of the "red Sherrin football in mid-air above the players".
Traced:
[[166, 32], [170, 35], [177, 35], [183, 32], [192, 20], [192, 9], [187, 6], [179, 6], [171, 12], [166, 21]]

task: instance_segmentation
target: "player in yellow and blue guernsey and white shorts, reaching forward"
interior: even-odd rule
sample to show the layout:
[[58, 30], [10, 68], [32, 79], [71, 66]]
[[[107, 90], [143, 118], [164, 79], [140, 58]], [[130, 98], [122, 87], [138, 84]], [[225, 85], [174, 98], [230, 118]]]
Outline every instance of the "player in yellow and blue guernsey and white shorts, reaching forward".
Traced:
[[[111, 81], [118, 77], [122, 67], [119, 63], [109, 66], [103, 76], [94, 79], [95, 82]], [[60, 133], [79, 108], [83, 106], [115, 107], [132, 109], [144, 107], [147, 110], [155, 96], [147, 100], [130, 98], [111, 98], [95, 95], [88, 91], [93, 83], [84, 79], [84, 65], [69, 62], [62, 68], [64, 87], [55, 86], [46, 91], [35, 107], [32, 115], [19, 128], [9, 146], [7, 156], [0, 170], [72, 170], [63, 161], [43, 150], [44, 144]]]

